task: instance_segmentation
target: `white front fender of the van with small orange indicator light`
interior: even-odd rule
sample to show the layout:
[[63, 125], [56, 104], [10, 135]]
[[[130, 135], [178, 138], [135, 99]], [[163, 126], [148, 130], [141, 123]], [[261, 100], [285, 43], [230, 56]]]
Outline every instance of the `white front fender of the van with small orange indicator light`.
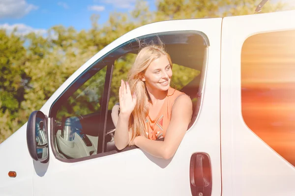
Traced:
[[[27, 123], [0, 145], [0, 195], [32, 196], [33, 161], [29, 155]], [[8, 172], [16, 172], [9, 177]]]

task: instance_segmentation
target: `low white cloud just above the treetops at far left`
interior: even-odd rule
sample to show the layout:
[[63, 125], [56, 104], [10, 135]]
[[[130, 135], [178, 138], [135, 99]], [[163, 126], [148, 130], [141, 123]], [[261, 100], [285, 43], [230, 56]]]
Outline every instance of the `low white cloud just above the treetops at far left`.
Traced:
[[14, 24], [14, 25], [9, 25], [7, 23], [0, 24], [0, 29], [5, 29], [7, 33], [11, 33], [14, 30], [14, 28], [17, 28], [17, 31], [16, 31], [17, 35], [27, 35], [30, 32], [34, 32], [36, 34], [46, 36], [46, 33], [47, 33], [47, 30], [44, 28], [33, 28], [25, 24]]

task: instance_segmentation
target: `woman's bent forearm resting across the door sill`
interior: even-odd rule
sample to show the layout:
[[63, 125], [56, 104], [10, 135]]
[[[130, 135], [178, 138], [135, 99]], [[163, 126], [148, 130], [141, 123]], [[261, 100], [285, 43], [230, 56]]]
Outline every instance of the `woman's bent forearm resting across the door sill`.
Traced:
[[138, 136], [134, 140], [134, 145], [145, 150], [150, 155], [163, 158], [163, 159], [170, 159], [174, 152], [170, 149], [165, 142], [163, 141], [156, 141], [156, 140], [149, 140], [144, 136]]

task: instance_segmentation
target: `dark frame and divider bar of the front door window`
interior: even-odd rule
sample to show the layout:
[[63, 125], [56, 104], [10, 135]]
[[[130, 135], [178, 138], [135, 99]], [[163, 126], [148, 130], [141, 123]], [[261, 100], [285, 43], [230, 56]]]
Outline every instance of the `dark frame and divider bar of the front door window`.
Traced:
[[[125, 147], [122, 150], [112, 150], [112, 151], [106, 151], [104, 152], [104, 149], [106, 149], [106, 145], [107, 143], [104, 142], [105, 140], [105, 134], [106, 134], [106, 121], [107, 121], [107, 112], [108, 112], [108, 104], [109, 104], [109, 96], [110, 96], [110, 89], [111, 89], [111, 82], [112, 82], [112, 75], [113, 75], [113, 70], [114, 70], [114, 63], [115, 60], [118, 59], [119, 57], [117, 57], [116, 59], [112, 59], [110, 60], [111, 63], [108, 63], [107, 65], [105, 64], [104, 61], [108, 60], [108, 56], [110, 54], [112, 54], [114, 51], [126, 46], [128, 43], [134, 43], [136, 42], [137, 39], [142, 40], [142, 39], [147, 39], [147, 38], [153, 38], [153, 37], [157, 37], [159, 35], [174, 35], [174, 34], [186, 34], [186, 33], [192, 33], [195, 35], [199, 35], [203, 37], [203, 41], [204, 41], [204, 46], [209, 47], [209, 39], [207, 37], [207, 35], [202, 32], [202, 31], [198, 31], [198, 30], [177, 30], [177, 31], [164, 31], [164, 32], [159, 32], [159, 33], [151, 33], [151, 34], [147, 34], [147, 35], [142, 35], [136, 38], [132, 38], [126, 42], [124, 42], [121, 45], [118, 45], [117, 47], [115, 47], [114, 49], [111, 49], [110, 51], [108, 51], [106, 54], [102, 55], [101, 57], [99, 57], [92, 65], [90, 65], [87, 69], [85, 69], [79, 76], [77, 76], [68, 86], [67, 88], [65, 88], [65, 90], [60, 93], [59, 97], [52, 103], [51, 107], [50, 107], [50, 111], [49, 111], [49, 118], [50, 118], [50, 144], [51, 144], [51, 149], [53, 151], [53, 154], [55, 156], [56, 159], [58, 159], [61, 162], [66, 162], [66, 163], [75, 163], [75, 162], [80, 162], [80, 161], [85, 161], [85, 160], [89, 160], [89, 159], [94, 159], [94, 158], [98, 158], [98, 157], [103, 157], [103, 156], [108, 156], [108, 155], [112, 155], [112, 154], [116, 154], [119, 152], [124, 152], [124, 151], [128, 151], [128, 150], [132, 150], [132, 149], [136, 149], [138, 147], [136, 146], [131, 146], [131, 147]], [[128, 52], [126, 52], [128, 53]], [[124, 53], [124, 54], [126, 54]], [[206, 80], [206, 73], [207, 73], [207, 63], [208, 63], [208, 50], [206, 51], [206, 57], [204, 58], [203, 61], [203, 73], [201, 73], [201, 77], [202, 77], [202, 81], [200, 83], [200, 89], [201, 92], [204, 89], [204, 85], [205, 85], [205, 80]], [[109, 58], [111, 59], [111, 58]], [[107, 61], [108, 62], [108, 61]], [[101, 64], [100, 66], [97, 66]], [[77, 89], [79, 89], [85, 82], [87, 82], [94, 74], [96, 74], [97, 72], [95, 72], [94, 74], [92, 74], [90, 77], [88, 77], [86, 80], [84, 80], [84, 82], [81, 84], [79, 87], [75, 88], [75, 85], [77, 85], [78, 80], [81, 79], [82, 77], [84, 77], [85, 75], [87, 75], [89, 72], [95, 70], [95, 69], [99, 69], [102, 70], [105, 66], [107, 66], [107, 73], [106, 73], [106, 81], [105, 81], [105, 87], [104, 87], [104, 92], [103, 92], [103, 96], [102, 96], [102, 104], [101, 104], [101, 108], [104, 110], [104, 118], [101, 119], [100, 118], [100, 122], [99, 122], [99, 136], [98, 136], [98, 144], [97, 144], [97, 154], [94, 155], [89, 155], [86, 157], [81, 157], [81, 158], [73, 158], [73, 159], [65, 159], [63, 157], [61, 157], [59, 155], [59, 152], [57, 151], [56, 147], [57, 144], [55, 142], [54, 139], [54, 114], [56, 114], [56, 112], [58, 111], [57, 108], [60, 107], [59, 102], [63, 102], [64, 100], [67, 100], [67, 98], [69, 98]], [[95, 68], [96, 67], [96, 68]], [[109, 74], [108, 74], [109, 73]], [[107, 88], [106, 88], [107, 87]], [[71, 92], [71, 93], [69, 93]], [[198, 92], [199, 98], [201, 98], [201, 103], [199, 106], [199, 111], [202, 107], [202, 102], [203, 102], [203, 94], [201, 92]], [[70, 94], [70, 96], [66, 96], [66, 94]], [[102, 110], [101, 110], [101, 114]], [[198, 116], [197, 115], [194, 118], [194, 124], [197, 122], [198, 120]], [[190, 125], [190, 127], [192, 126], [192, 124]], [[189, 127], [189, 128], [190, 128]], [[100, 131], [100, 129], [102, 129], [103, 131]], [[164, 141], [164, 138], [162, 139], [158, 139], [157, 141]]]

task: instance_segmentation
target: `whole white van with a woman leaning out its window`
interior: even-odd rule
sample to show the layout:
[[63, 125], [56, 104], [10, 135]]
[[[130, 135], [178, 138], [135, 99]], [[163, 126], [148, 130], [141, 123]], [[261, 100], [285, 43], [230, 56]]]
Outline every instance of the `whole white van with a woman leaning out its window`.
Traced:
[[[169, 160], [119, 151], [109, 133], [114, 82], [136, 38], [157, 36], [193, 101]], [[295, 10], [144, 25], [95, 54], [0, 145], [0, 196], [295, 196], [294, 92]]]

